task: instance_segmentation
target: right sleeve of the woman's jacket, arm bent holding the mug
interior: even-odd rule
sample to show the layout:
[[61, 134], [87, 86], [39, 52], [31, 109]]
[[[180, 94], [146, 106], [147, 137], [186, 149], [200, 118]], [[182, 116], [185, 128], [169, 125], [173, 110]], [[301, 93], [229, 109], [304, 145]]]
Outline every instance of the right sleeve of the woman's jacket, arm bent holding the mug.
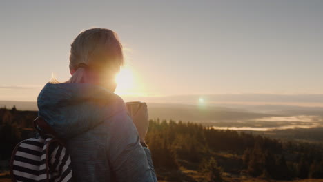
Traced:
[[142, 147], [137, 128], [125, 111], [110, 119], [106, 155], [117, 181], [156, 182], [150, 150]]

